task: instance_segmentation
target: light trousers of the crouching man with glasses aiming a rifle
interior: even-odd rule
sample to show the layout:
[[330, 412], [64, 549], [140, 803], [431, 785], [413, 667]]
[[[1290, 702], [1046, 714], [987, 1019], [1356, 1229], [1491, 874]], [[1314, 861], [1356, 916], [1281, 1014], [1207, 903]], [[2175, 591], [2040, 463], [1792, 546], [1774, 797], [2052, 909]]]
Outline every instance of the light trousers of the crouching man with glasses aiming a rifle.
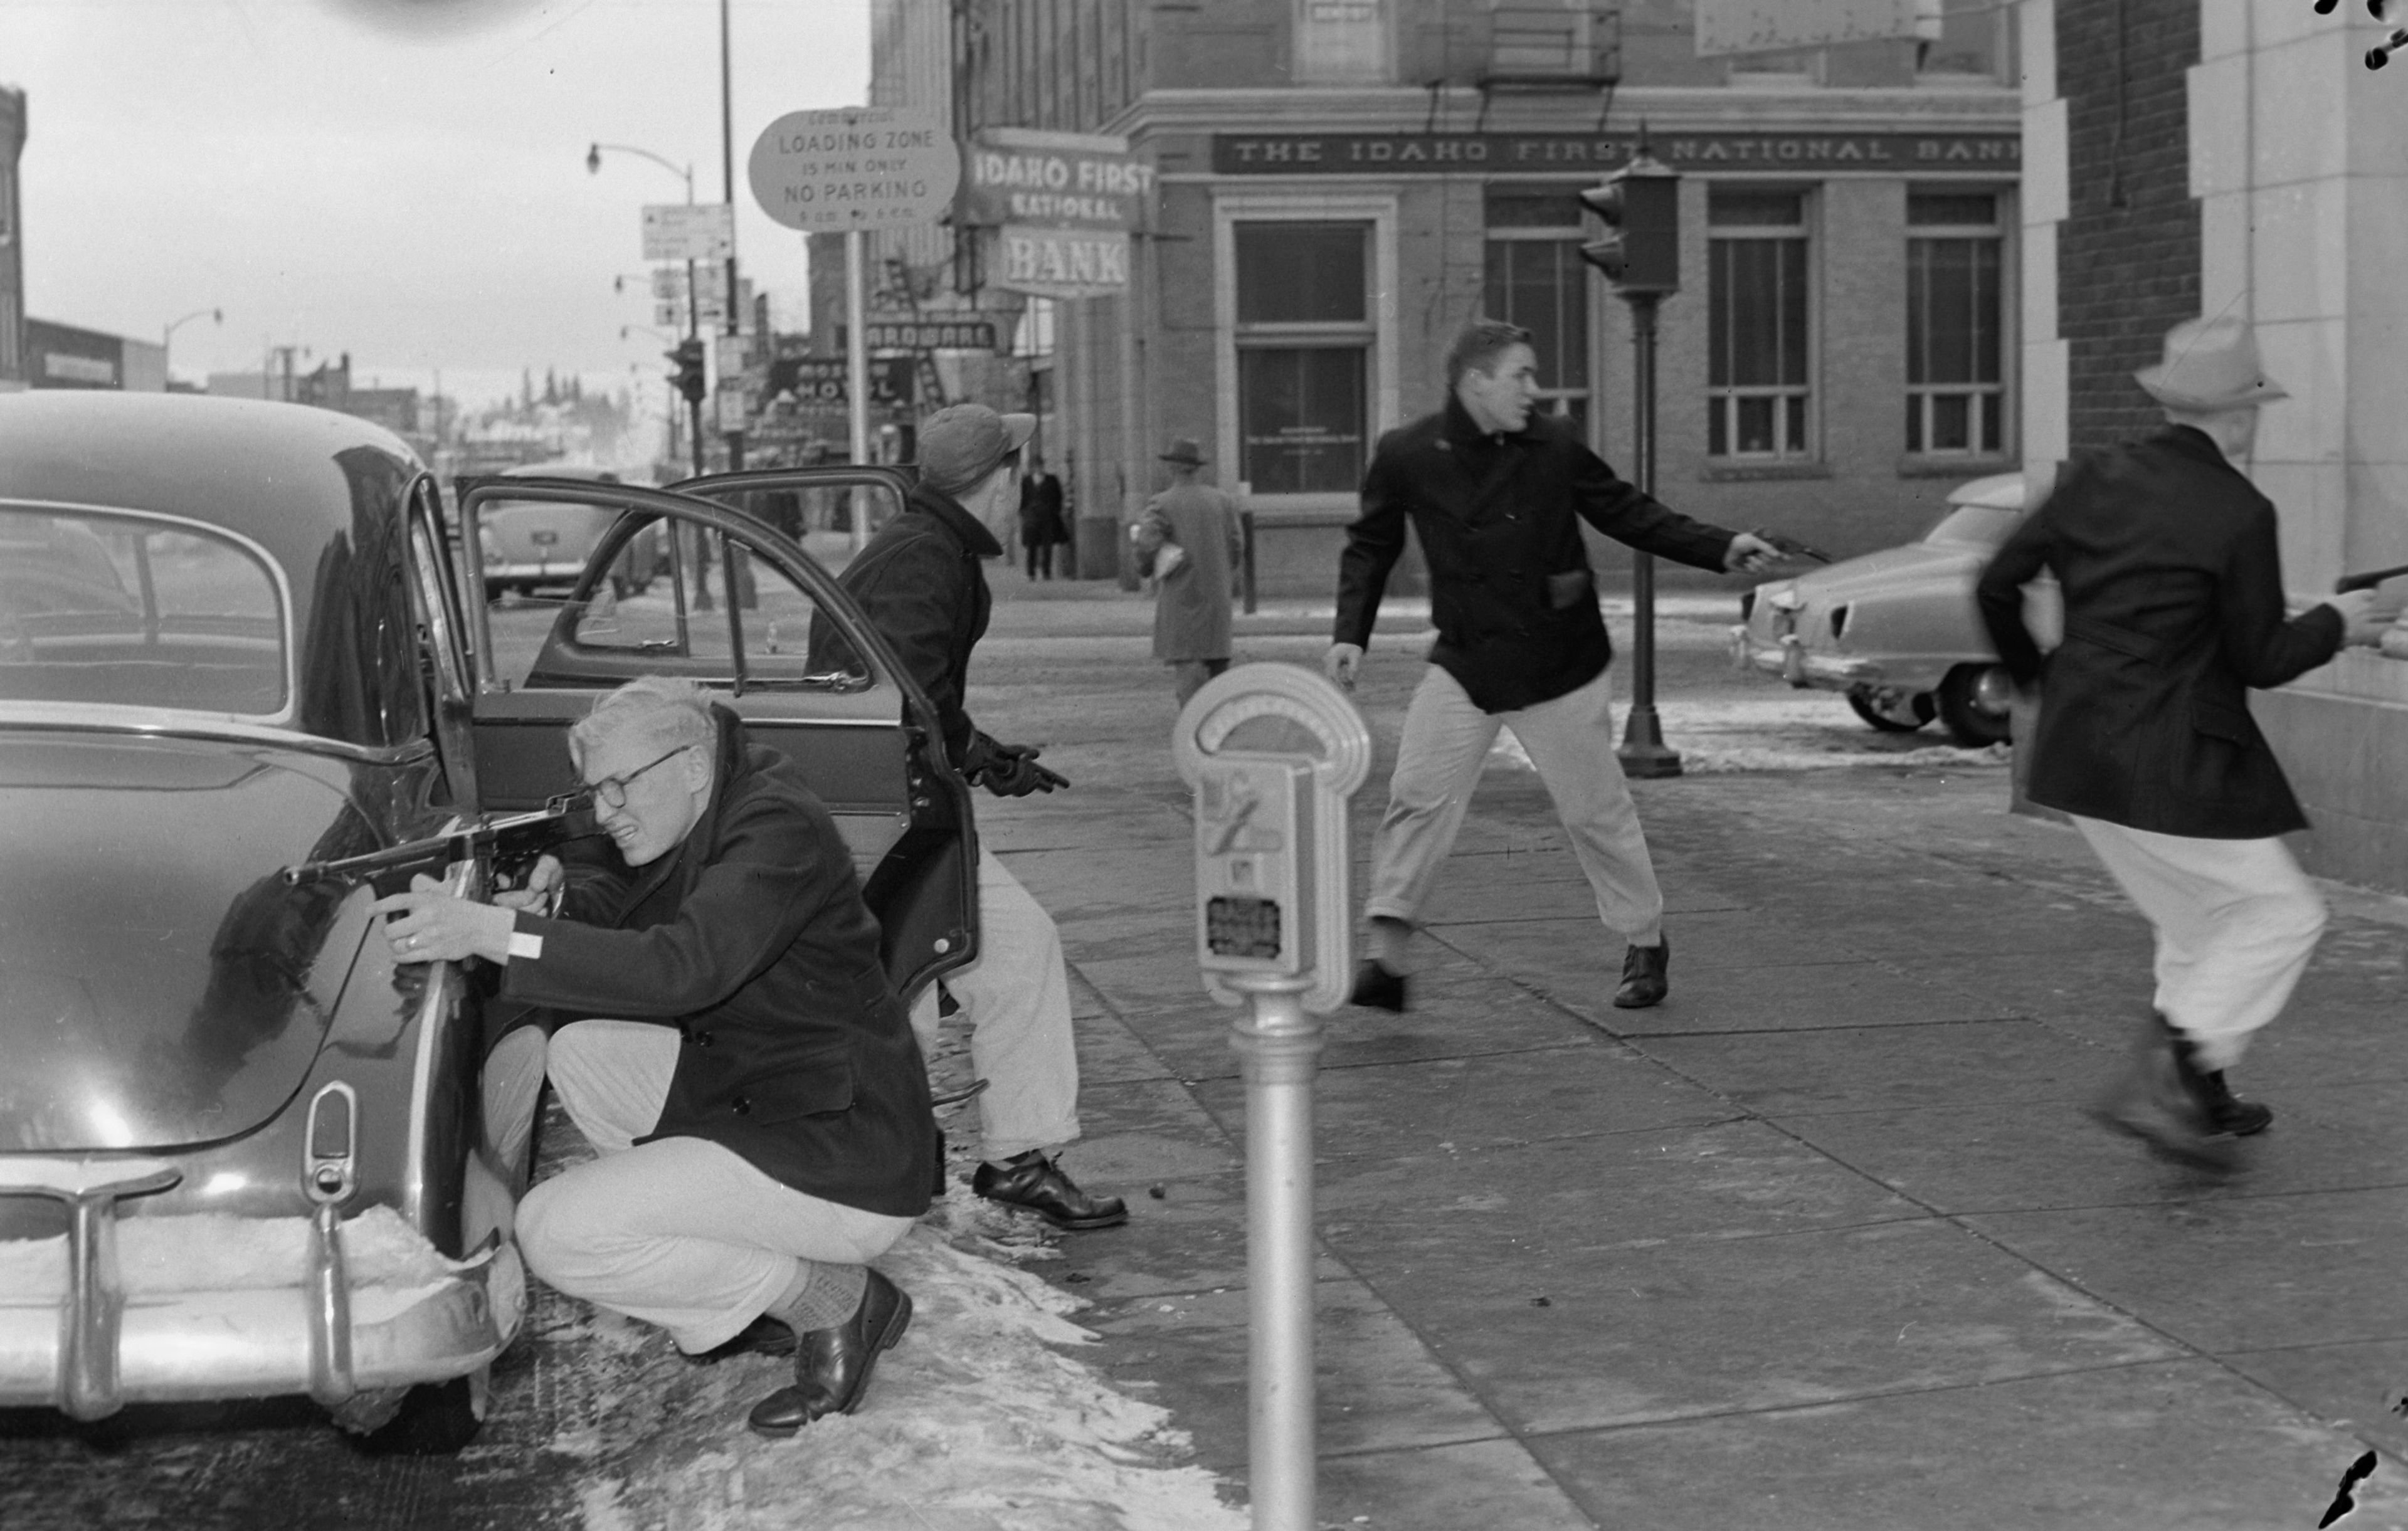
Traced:
[[[523, 1040], [527, 1038], [527, 1040]], [[539, 1182], [518, 1204], [527, 1269], [571, 1297], [657, 1324], [686, 1353], [734, 1338], [787, 1283], [797, 1261], [862, 1266], [917, 1218], [843, 1206], [771, 1180], [703, 1139], [653, 1131], [677, 1071], [674, 1025], [573, 1021], [551, 1035], [503, 1038], [486, 1064], [486, 1100], [549, 1069], [568, 1119], [602, 1158]]]

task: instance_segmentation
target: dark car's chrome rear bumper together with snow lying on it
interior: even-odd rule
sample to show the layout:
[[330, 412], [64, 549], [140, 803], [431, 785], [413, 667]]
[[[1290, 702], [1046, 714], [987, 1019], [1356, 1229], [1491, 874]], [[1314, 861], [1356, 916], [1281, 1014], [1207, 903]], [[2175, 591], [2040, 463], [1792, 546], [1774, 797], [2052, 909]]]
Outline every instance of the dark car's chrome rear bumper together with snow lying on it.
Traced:
[[[176, 1172], [106, 1160], [108, 1180], [96, 1180], [87, 1160], [82, 1175], [36, 1187], [41, 1163], [7, 1165], [0, 1194], [67, 1201], [72, 1225], [7, 1252], [0, 1406], [51, 1406], [79, 1420], [125, 1403], [275, 1394], [335, 1406], [361, 1391], [465, 1377], [518, 1331], [525, 1271], [515, 1245], [470, 1261], [433, 1249], [395, 1261], [393, 1230], [405, 1225], [390, 1213], [373, 1230], [340, 1223], [330, 1206], [313, 1218], [142, 1218], [130, 1261], [140, 1276], [130, 1281], [118, 1261], [116, 1204]], [[149, 1170], [149, 1180], [128, 1170]], [[209, 1252], [178, 1259], [185, 1247]], [[226, 1249], [258, 1257], [226, 1259]]]

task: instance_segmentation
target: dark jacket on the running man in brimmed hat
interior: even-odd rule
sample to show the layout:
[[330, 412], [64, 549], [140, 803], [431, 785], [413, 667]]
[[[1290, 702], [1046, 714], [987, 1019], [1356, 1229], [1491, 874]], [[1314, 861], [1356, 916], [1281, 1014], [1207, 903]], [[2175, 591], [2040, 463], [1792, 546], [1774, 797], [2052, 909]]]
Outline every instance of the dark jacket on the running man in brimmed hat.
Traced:
[[[2042, 571], [2066, 597], [2047, 660], [2023, 626]], [[2307, 828], [2247, 688], [2331, 660], [2341, 611], [2283, 619], [2273, 503], [2203, 431], [2073, 457], [1975, 599], [2015, 681], [2040, 681], [2032, 802], [2196, 840]]]

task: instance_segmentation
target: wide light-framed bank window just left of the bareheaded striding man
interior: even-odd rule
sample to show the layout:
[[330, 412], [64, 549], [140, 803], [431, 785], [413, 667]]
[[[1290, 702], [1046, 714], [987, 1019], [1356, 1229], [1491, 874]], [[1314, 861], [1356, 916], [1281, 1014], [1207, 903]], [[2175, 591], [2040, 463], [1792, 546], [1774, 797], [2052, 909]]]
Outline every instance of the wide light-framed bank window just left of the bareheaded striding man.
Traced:
[[1235, 224], [1238, 428], [1255, 493], [1353, 491], [1370, 421], [1370, 224]]

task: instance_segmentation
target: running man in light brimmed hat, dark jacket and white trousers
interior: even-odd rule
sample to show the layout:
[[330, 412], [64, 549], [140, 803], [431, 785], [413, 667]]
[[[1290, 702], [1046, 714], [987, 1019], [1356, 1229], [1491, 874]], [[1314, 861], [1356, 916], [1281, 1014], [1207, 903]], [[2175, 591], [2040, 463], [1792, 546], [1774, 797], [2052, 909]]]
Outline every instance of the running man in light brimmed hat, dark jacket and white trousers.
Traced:
[[[2273, 1021], [2324, 929], [2324, 900], [2278, 835], [2307, 828], [2249, 717], [2345, 643], [2374, 643], [2374, 592], [2283, 614], [2276, 510], [2235, 467], [2259, 407], [2288, 397], [2237, 320], [2189, 320], [2138, 373], [2165, 428], [2066, 462], [1982, 571], [1977, 599], [1999, 660], [2040, 686], [2030, 797], [2081, 828], [2158, 932], [2155, 1013], [2093, 1105], [2102, 1124], [2177, 1158], [2220, 1165], [2273, 1112], [2225, 1069]], [[2023, 585], [2064, 590], [2047, 657]]]

